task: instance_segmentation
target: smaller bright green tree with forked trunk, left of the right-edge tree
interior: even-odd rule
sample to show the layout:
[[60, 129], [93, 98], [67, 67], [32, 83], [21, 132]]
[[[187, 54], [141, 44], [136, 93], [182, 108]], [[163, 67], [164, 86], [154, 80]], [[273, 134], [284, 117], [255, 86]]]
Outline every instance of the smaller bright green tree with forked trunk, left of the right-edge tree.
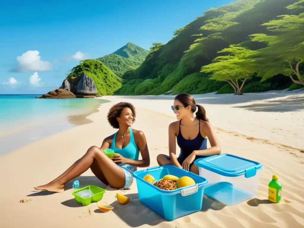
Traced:
[[248, 56], [253, 55], [255, 51], [235, 44], [218, 53], [229, 53], [229, 55], [216, 57], [213, 63], [203, 66], [201, 72], [211, 73], [212, 80], [228, 82], [236, 95], [242, 95], [245, 82], [252, 73], [246, 67], [253, 61]]

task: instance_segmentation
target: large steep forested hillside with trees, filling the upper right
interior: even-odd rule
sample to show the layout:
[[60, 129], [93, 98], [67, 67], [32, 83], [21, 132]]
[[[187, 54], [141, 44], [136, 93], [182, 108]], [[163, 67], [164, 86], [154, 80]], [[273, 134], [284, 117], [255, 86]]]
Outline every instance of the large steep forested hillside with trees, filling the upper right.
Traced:
[[300, 88], [301, 12], [304, 0], [243, 0], [209, 9], [175, 30], [168, 43], [154, 43], [144, 62], [122, 76], [123, 86], [116, 94], [242, 94]]

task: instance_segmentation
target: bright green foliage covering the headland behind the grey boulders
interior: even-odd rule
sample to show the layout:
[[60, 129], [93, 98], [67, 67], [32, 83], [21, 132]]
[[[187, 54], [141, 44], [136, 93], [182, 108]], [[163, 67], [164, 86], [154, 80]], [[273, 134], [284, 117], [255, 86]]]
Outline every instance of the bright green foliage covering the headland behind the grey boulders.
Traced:
[[112, 95], [113, 92], [118, 90], [122, 85], [122, 79], [116, 76], [99, 60], [81, 60], [76, 67], [71, 69], [71, 73], [67, 78], [77, 79], [83, 73], [94, 80], [98, 95]]

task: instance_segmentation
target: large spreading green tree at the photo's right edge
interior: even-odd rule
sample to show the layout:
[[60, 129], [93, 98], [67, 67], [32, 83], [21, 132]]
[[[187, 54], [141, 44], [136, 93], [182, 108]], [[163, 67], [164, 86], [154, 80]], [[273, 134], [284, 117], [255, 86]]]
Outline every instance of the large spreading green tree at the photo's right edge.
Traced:
[[[293, 4], [289, 8], [298, 9], [296, 6], [299, 5]], [[268, 46], [250, 56], [254, 58], [250, 67], [259, 72], [262, 81], [284, 74], [294, 83], [304, 85], [304, 75], [299, 71], [299, 65], [304, 62], [304, 13], [278, 17], [280, 19], [262, 24], [275, 35], [251, 35], [252, 41], [264, 42]]]

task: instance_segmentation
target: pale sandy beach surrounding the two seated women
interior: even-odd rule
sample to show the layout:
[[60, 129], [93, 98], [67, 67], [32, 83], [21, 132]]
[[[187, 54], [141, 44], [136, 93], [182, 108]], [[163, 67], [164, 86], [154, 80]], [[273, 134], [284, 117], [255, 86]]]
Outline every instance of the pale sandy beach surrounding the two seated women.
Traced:
[[[137, 111], [133, 128], [147, 137], [151, 164], [156, 156], [168, 154], [168, 125], [176, 117], [171, 111], [174, 96], [104, 96], [112, 102], [84, 124], [28, 144], [0, 157], [0, 227], [150, 227], [157, 228], [241, 228], [304, 226], [304, 94], [268, 92], [260, 94], [194, 95], [215, 127], [222, 153], [235, 154], [263, 165], [254, 199], [236, 206], [225, 206], [204, 197], [202, 211], [165, 221], [138, 199], [136, 181], [129, 190], [104, 186], [90, 170], [80, 176], [81, 187], [96, 185], [107, 191], [102, 199], [114, 209], [102, 213], [97, 203], [83, 207], [74, 201], [71, 186], [64, 193], [38, 192], [64, 172], [92, 146], [114, 133], [106, 120], [110, 106], [132, 102]], [[268, 201], [268, 183], [276, 174], [282, 183], [282, 202]], [[72, 182], [72, 181], [71, 181]], [[116, 193], [132, 196], [119, 205]], [[31, 199], [26, 203], [19, 200]]]

